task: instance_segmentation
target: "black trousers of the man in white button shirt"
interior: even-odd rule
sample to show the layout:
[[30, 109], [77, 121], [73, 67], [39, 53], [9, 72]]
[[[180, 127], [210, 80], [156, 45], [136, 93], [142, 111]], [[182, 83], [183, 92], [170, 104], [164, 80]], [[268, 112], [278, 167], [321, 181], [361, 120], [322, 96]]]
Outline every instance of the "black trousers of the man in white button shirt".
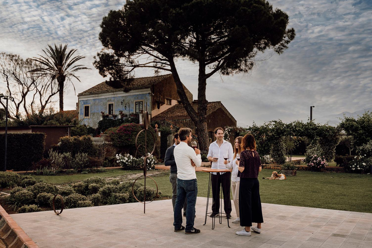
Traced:
[[212, 212], [219, 213], [219, 190], [222, 185], [222, 194], [223, 194], [223, 205], [224, 210], [227, 215], [231, 213], [231, 201], [230, 201], [230, 178], [231, 172], [225, 172], [220, 174], [217, 172], [217, 175], [212, 174]]

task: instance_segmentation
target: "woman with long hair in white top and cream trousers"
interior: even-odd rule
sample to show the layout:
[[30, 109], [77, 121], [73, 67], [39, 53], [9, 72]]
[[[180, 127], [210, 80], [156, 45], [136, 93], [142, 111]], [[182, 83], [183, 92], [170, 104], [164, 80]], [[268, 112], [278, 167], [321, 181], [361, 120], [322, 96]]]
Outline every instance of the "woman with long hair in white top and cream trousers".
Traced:
[[238, 167], [239, 167], [239, 161], [236, 159], [236, 155], [241, 152], [240, 144], [242, 143], [243, 137], [239, 136], [235, 139], [235, 145], [234, 145], [234, 156], [233, 160], [230, 161], [230, 163], [227, 163], [225, 160], [226, 168], [233, 169], [231, 172], [231, 190], [233, 193], [233, 202], [235, 206], [236, 216], [237, 218], [233, 220], [233, 223], [239, 223], [240, 217], [239, 217], [239, 184], [240, 184], [240, 177], [238, 177]]

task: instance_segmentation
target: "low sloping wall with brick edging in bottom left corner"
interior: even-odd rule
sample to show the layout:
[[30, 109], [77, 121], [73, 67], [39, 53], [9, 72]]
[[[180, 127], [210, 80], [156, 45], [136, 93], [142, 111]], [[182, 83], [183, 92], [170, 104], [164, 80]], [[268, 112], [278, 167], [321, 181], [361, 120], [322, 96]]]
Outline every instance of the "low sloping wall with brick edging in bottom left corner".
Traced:
[[0, 205], [0, 248], [38, 248]]

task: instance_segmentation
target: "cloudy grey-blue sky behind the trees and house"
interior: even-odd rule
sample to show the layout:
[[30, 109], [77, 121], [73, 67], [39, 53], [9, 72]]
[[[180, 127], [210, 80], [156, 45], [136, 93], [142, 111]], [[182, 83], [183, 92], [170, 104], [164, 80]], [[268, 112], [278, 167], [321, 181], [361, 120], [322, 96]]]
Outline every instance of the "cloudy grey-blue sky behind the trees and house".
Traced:
[[[208, 101], [221, 101], [240, 126], [272, 120], [307, 122], [344, 111], [372, 107], [372, 0], [270, 0], [290, 17], [296, 37], [280, 56], [267, 51], [247, 74], [207, 81]], [[78, 93], [108, 79], [93, 66], [102, 49], [102, 18], [121, 9], [123, 0], [1, 0], [0, 52], [38, 57], [48, 44], [66, 44], [92, 70], [77, 74], [64, 95], [64, 109], [75, 109]], [[180, 78], [197, 98], [196, 64], [179, 60]], [[164, 72], [166, 74], [166, 72]], [[136, 77], [153, 76], [138, 71]], [[0, 83], [0, 93], [5, 83]], [[58, 104], [56, 104], [58, 109]]]

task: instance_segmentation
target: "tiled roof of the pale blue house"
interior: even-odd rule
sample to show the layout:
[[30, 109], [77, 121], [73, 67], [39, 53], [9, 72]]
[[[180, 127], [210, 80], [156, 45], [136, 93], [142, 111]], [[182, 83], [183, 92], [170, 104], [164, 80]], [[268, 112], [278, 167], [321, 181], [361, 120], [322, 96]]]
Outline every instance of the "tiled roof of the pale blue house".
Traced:
[[131, 90], [146, 89], [169, 77], [172, 77], [172, 74], [145, 78], [130, 78], [127, 79], [125, 83], [119, 81], [105, 81], [93, 86], [92, 88], [82, 93], [79, 93], [78, 95], [90, 95], [117, 91], [128, 92]]

